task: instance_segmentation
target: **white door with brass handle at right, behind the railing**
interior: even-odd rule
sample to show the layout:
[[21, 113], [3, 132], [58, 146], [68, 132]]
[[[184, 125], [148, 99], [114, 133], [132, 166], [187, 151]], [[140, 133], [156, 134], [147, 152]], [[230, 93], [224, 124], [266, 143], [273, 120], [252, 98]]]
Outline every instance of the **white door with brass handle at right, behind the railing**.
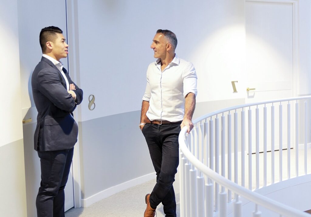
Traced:
[[[293, 97], [295, 72], [295, 15], [292, 3], [280, 1], [245, 2], [246, 26], [246, 103]], [[253, 89], [253, 90], [252, 90]], [[271, 119], [271, 105], [267, 105], [267, 119]], [[263, 133], [263, 106], [259, 106], [259, 133]], [[279, 104], [275, 104], [275, 149], [279, 149]], [[283, 120], [287, 120], [287, 102], [282, 103]], [[290, 105], [291, 110], [293, 105]], [[248, 110], [248, 109], [247, 109]], [[293, 119], [290, 118], [291, 125]], [[255, 152], [255, 109], [252, 109], [252, 152]], [[286, 132], [287, 123], [283, 121]], [[267, 150], [271, 150], [271, 125], [267, 125]], [[260, 136], [263, 138], [263, 136]], [[287, 137], [283, 133], [283, 148]], [[291, 138], [293, 141], [293, 138]], [[263, 141], [259, 141], [263, 151]], [[293, 143], [291, 142], [291, 146]]]

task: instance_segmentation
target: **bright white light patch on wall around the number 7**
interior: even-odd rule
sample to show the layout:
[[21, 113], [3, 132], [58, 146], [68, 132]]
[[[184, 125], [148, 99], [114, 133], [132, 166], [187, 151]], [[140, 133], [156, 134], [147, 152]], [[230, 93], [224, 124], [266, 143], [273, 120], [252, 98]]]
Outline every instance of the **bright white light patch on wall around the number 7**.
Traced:
[[[197, 101], [244, 98], [245, 28], [225, 26], [198, 45], [191, 54], [198, 75]], [[238, 93], [233, 93], [231, 81]]]

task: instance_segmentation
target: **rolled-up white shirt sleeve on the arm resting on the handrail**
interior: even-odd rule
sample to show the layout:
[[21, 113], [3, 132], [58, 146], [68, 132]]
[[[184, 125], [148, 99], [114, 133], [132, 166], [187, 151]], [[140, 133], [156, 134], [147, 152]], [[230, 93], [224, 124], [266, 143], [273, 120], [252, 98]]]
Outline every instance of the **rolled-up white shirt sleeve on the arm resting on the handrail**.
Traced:
[[197, 96], [197, 73], [192, 63], [189, 63], [183, 72], [183, 97], [188, 93]]

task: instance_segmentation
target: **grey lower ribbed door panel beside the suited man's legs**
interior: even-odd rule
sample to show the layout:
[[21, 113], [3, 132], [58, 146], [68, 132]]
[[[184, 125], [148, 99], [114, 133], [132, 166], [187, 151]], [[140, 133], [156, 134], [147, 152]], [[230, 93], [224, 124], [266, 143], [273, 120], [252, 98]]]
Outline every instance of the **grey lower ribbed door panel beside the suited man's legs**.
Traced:
[[37, 216], [35, 201], [40, 186], [40, 159], [34, 150], [36, 125], [36, 122], [23, 125], [27, 216]]

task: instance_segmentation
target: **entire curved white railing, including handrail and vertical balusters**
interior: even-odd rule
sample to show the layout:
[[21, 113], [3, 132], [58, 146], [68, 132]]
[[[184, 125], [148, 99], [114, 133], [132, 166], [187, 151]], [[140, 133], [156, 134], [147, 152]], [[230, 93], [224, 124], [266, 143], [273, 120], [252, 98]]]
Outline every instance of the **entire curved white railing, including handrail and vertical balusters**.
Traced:
[[[188, 147], [186, 145], [186, 144], [188, 144], [190, 142], [189, 138], [186, 141], [186, 139], [187, 139], [186, 129], [187, 128], [184, 127], [181, 130], [181, 132], [179, 134], [179, 147], [180, 147], [180, 149], [182, 151], [183, 159], [186, 159], [186, 161], [189, 164], [191, 164], [193, 168], [196, 168], [199, 172], [204, 173], [204, 175], [208, 177], [208, 180], [210, 180], [211, 182], [208, 181], [206, 183], [206, 187], [210, 188], [211, 191], [213, 189], [213, 187], [212, 187], [213, 181], [215, 181], [215, 189], [214, 190], [216, 192], [215, 192], [214, 196], [216, 196], [216, 200], [215, 200], [215, 202], [216, 202], [216, 204], [215, 204], [215, 211], [216, 212], [219, 211], [219, 209], [218, 209], [219, 208], [218, 201], [219, 201], [219, 199], [221, 199], [221, 198], [218, 199], [217, 191], [219, 189], [218, 186], [221, 186], [221, 191], [222, 192], [225, 193], [224, 189], [227, 188], [228, 189], [228, 193], [231, 194], [231, 191], [232, 191], [235, 194], [235, 205], [234, 205], [234, 207], [238, 210], [236, 213], [240, 212], [239, 209], [240, 209], [241, 203], [239, 201], [239, 196], [242, 196], [242, 197], [244, 197], [244, 198], [254, 202], [256, 204], [256, 210], [257, 210], [258, 205], [261, 205], [261, 206], [263, 206], [263, 207], [265, 207], [265, 208], [267, 208], [269, 210], [272, 210], [272, 211], [274, 211], [274, 212], [276, 212], [276, 213], [278, 213], [280, 215], [284, 215], [284, 216], [295, 216], [295, 217], [309, 217], [310, 216], [309, 214], [304, 213], [304, 212], [302, 212], [300, 210], [297, 210], [297, 209], [295, 209], [293, 207], [289, 207], [289, 206], [284, 205], [284, 204], [282, 204], [280, 202], [277, 202], [275, 200], [272, 200], [270, 198], [262, 196], [262, 195], [260, 195], [260, 194], [258, 194], [256, 192], [253, 192], [251, 190], [252, 189], [252, 180], [249, 180], [249, 182], [248, 182], [250, 189], [245, 188], [244, 187], [244, 170], [243, 169], [241, 171], [241, 173], [242, 173], [241, 174], [242, 186], [240, 186], [237, 183], [234, 183], [233, 181], [229, 180], [230, 177], [231, 177], [231, 175], [229, 175], [229, 174], [228, 174], [228, 179], [227, 179], [224, 176], [224, 168], [221, 168], [221, 172], [222, 172], [221, 175], [218, 172], [218, 170], [219, 170], [219, 168], [218, 168], [219, 167], [219, 149], [218, 149], [218, 146], [219, 146], [219, 132], [217, 130], [219, 128], [219, 123], [218, 123], [219, 122], [219, 118], [218, 118], [218, 115], [221, 115], [221, 129], [223, 129], [223, 126], [225, 125], [224, 112], [229, 112], [229, 114], [228, 114], [228, 126], [230, 126], [231, 125], [230, 111], [234, 111], [235, 118], [237, 118], [237, 109], [242, 109], [242, 111], [241, 111], [241, 134], [242, 134], [242, 138], [241, 138], [242, 139], [241, 140], [241, 151], [243, 153], [244, 152], [243, 150], [245, 150], [244, 149], [245, 148], [244, 147], [244, 145], [245, 145], [245, 138], [244, 138], [243, 134], [247, 133], [245, 131], [245, 125], [244, 125], [244, 121], [245, 121], [245, 111], [244, 111], [244, 108], [249, 107], [249, 109], [248, 109], [248, 122], [249, 121], [250, 122], [248, 123], [248, 125], [249, 125], [248, 127], [250, 127], [250, 129], [251, 129], [251, 126], [252, 126], [252, 123], [251, 123], [251, 121], [252, 121], [251, 120], [252, 119], [252, 117], [251, 117], [251, 112], [252, 112], [251, 111], [251, 106], [257, 106], [257, 108], [256, 108], [256, 122], [255, 122], [255, 124], [256, 124], [256, 153], [257, 153], [257, 155], [256, 155], [256, 166], [258, 167], [258, 164], [259, 164], [259, 162], [258, 162], [258, 157], [259, 157], [258, 156], [258, 153], [259, 153], [259, 149], [258, 149], [258, 147], [259, 147], [259, 142], [258, 142], [258, 139], [259, 139], [259, 137], [258, 137], [258, 134], [259, 134], [259, 132], [258, 132], [258, 111], [259, 111], [258, 110], [258, 105], [265, 105], [264, 106], [264, 128], [265, 128], [264, 129], [264, 158], [265, 158], [265, 161], [266, 161], [267, 160], [266, 159], [267, 158], [267, 156], [266, 156], [266, 152], [267, 152], [267, 147], [266, 147], [266, 145], [267, 145], [266, 144], [267, 143], [267, 138], [266, 138], [266, 134], [267, 134], [267, 132], [266, 132], [266, 130], [267, 130], [266, 129], [267, 128], [267, 107], [266, 107], [266, 104], [272, 104], [272, 106], [271, 106], [271, 112], [272, 112], [272, 116], [271, 116], [271, 118], [272, 118], [271, 119], [271, 121], [272, 121], [271, 122], [271, 124], [272, 124], [272, 134], [271, 134], [271, 136], [272, 136], [272, 138], [271, 139], [273, 141], [272, 141], [272, 144], [271, 144], [272, 145], [271, 148], [272, 148], [272, 161], [273, 161], [274, 160], [274, 106], [273, 106], [273, 103], [276, 103], [276, 102], [280, 103], [280, 106], [279, 106], [279, 124], [278, 125], [280, 125], [280, 129], [281, 129], [280, 132], [279, 132], [280, 133], [279, 138], [281, 140], [279, 145], [282, 148], [282, 120], [281, 120], [282, 119], [282, 105], [281, 105], [281, 102], [288, 101], [288, 104], [287, 104], [287, 118], [289, 119], [290, 118], [290, 104], [289, 104], [289, 102], [296, 100], [296, 106], [295, 106], [296, 107], [296, 115], [295, 116], [297, 116], [297, 114], [298, 114], [297, 113], [298, 112], [297, 111], [298, 110], [297, 109], [298, 108], [298, 100], [306, 100], [306, 99], [311, 99], [311, 96], [293, 97], [293, 98], [284, 98], [284, 99], [278, 99], [278, 100], [269, 100], [269, 101], [264, 101], [264, 102], [248, 103], [248, 104], [232, 106], [232, 107], [220, 109], [220, 110], [217, 110], [217, 111], [213, 111], [211, 113], [208, 113], [208, 114], [206, 114], [204, 116], [201, 116], [201, 117], [193, 120], [193, 124], [194, 125], [196, 125], [198, 122], [201, 122], [200, 125], [202, 125], [202, 121], [205, 120], [204, 126], [207, 126], [205, 130], [208, 131], [208, 128], [209, 128], [209, 138], [208, 139], [204, 138], [204, 141], [209, 140], [209, 143], [210, 143], [209, 150], [208, 150], [209, 156], [210, 156], [209, 157], [209, 163], [207, 162], [208, 158], [207, 159], [204, 158], [204, 163], [206, 165], [203, 164], [202, 159], [198, 159], [197, 158], [200, 155], [200, 153], [197, 153], [196, 156], [195, 156], [194, 152], [191, 153], [189, 151], [189, 149], [188, 149]], [[306, 115], [306, 112], [307, 112], [307, 106], [306, 106], [306, 102], [304, 102], [304, 115]], [[214, 126], [213, 126], [214, 125], [214, 121], [212, 119], [213, 116], [216, 116], [215, 117], [215, 153], [214, 153], [214, 150], [213, 150], [213, 146], [214, 146]], [[207, 122], [208, 118], [211, 118], [211, 120], [209, 120], [209, 123]], [[236, 127], [237, 123], [238, 123], [237, 121], [238, 121], [237, 119], [234, 120], [234, 125], [235, 125], [234, 129], [235, 130], [237, 129], [237, 127]], [[295, 125], [297, 126], [298, 122], [296, 122]], [[306, 125], [306, 121], [304, 122], [304, 125]], [[194, 127], [194, 129], [196, 129], [196, 128]], [[287, 133], [289, 132], [289, 130], [290, 130], [290, 120], [287, 120], [287, 130], [286, 130]], [[304, 130], [306, 130], [306, 127], [305, 127]], [[296, 128], [296, 131], [297, 131], [297, 128]], [[224, 153], [223, 153], [223, 150], [224, 150], [224, 147], [225, 147], [225, 144], [223, 143], [223, 141], [224, 141], [224, 131], [222, 131], [221, 133], [222, 133], [221, 134], [221, 151], [222, 151], [222, 154], [221, 154], [221, 156], [222, 156], [221, 166], [223, 167], [224, 166], [223, 165], [224, 164], [224, 158], [223, 158]], [[191, 132], [191, 134], [193, 134], [193, 131]], [[238, 135], [235, 133], [234, 136], [235, 136], [234, 143], [237, 143]], [[304, 138], [304, 158], [305, 158], [304, 163], [306, 164], [306, 153], [307, 153], [307, 151], [306, 151], [306, 149], [307, 149], [306, 132], [304, 134], [304, 137], [305, 137]], [[228, 129], [228, 138], [230, 138], [230, 141], [231, 141], [231, 128]], [[252, 134], [248, 130], [248, 140], [251, 139], [251, 138], [252, 138]], [[298, 146], [297, 139], [298, 138], [296, 137], [296, 139], [295, 139], [296, 140], [296, 146]], [[229, 141], [228, 141], [228, 143], [229, 143]], [[252, 143], [252, 141], [249, 140], [248, 141], [248, 145], [251, 145], [251, 143]], [[290, 135], [287, 135], [287, 145], [286, 145], [287, 148], [288, 148], [289, 144], [290, 144]], [[189, 145], [193, 145], [193, 144], [191, 144], [191, 142], [190, 142]], [[251, 148], [252, 147], [248, 147], [248, 149], [250, 151], [251, 151]], [[296, 148], [298, 148], [298, 147], [296, 147]], [[229, 147], [228, 147], [228, 150], [231, 150], [231, 148], [229, 149]], [[235, 144], [234, 150], [235, 150], [235, 152], [234, 152], [234, 154], [235, 154], [234, 159], [236, 159], [237, 158], [237, 146], [236, 146], [236, 144]], [[288, 158], [289, 158], [289, 153], [290, 152], [288, 150], [287, 151]], [[280, 152], [280, 159], [279, 159], [280, 162], [281, 162], [280, 164], [282, 164], [282, 155], [281, 154], [282, 153]], [[296, 151], [296, 156], [297, 155], [298, 155], [298, 151]], [[249, 157], [250, 156], [251, 156], [251, 153], [250, 153]], [[215, 166], [214, 166], [213, 159], [215, 160]], [[231, 159], [231, 158], [229, 158], [229, 159]], [[244, 164], [243, 163], [244, 162], [244, 155], [243, 154], [242, 154], [241, 160], [242, 160], [242, 164]], [[250, 158], [250, 162], [249, 163], [251, 163], [251, 160], [252, 159]], [[290, 159], [288, 159], [288, 162], [290, 162]], [[229, 163], [229, 161], [228, 161], [228, 163]], [[208, 164], [209, 164], [209, 166], [208, 166]], [[235, 167], [237, 167], [237, 162], [234, 162], [234, 164], [236, 165]], [[296, 159], [296, 167], [297, 166], [298, 166], [298, 161]], [[228, 167], [230, 167], [230, 166], [228, 166]], [[272, 167], [274, 168], [274, 162], [272, 162]], [[259, 168], [256, 168], [256, 169], [257, 169], [256, 171], [258, 173]], [[266, 170], [266, 168], [265, 168], [265, 170]], [[264, 177], [265, 177], [264, 178], [264, 186], [267, 185], [267, 183], [266, 183], [267, 182], [267, 180], [266, 180], [267, 179], [266, 178], [267, 174], [266, 173], [267, 173], [267, 171], [264, 171]], [[296, 170], [296, 173], [297, 173], [297, 170]], [[305, 175], [307, 174], [307, 166], [306, 165], [304, 165], [304, 173], [305, 173]], [[290, 175], [289, 174], [290, 174], [290, 169], [288, 168], [288, 179], [290, 179]], [[258, 177], [259, 177], [258, 174], [256, 174], [256, 189], [259, 188]], [[237, 182], [236, 175], [234, 175], [234, 178], [235, 178], [234, 181]], [[279, 180], [282, 181], [282, 173], [281, 173], [281, 171], [280, 171], [280, 179]], [[271, 181], [272, 181], [272, 184], [273, 184], [274, 183], [274, 170], [273, 169], [272, 169], [272, 180]], [[224, 198], [222, 198], [221, 201], [225, 201], [225, 200], [223, 200]], [[230, 198], [231, 198], [231, 196], [228, 197], [228, 201], [230, 200]], [[224, 214], [225, 212], [222, 211], [222, 213]], [[258, 215], [258, 216], [260, 216], [260, 215]]]

